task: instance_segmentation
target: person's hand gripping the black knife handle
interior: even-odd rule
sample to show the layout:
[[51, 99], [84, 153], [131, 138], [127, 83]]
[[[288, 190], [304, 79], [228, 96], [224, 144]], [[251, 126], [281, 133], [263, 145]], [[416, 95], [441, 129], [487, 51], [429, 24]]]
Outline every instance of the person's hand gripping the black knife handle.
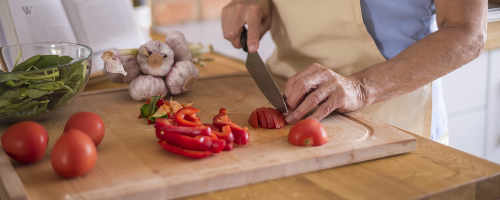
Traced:
[[248, 24], [248, 51], [258, 49], [260, 38], [271, 27], [270, 0], [234, 0], [222, 9], [224, 38], [236, 48], [241, 48], [243, 25]]

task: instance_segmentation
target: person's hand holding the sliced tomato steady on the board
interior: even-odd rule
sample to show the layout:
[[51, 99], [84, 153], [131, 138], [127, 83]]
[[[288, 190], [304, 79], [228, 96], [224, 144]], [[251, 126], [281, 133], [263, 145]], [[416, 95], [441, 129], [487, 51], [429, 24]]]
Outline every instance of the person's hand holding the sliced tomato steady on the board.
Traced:
[[319, 121], [332, 111], [355, 111], [367, 106], [363, 84], [352, 76], [341, 76], [319, 64], [312, 64], [288, 79], [284, 98], [286, 123], [294, 124], [316, 105], [307, 118]]

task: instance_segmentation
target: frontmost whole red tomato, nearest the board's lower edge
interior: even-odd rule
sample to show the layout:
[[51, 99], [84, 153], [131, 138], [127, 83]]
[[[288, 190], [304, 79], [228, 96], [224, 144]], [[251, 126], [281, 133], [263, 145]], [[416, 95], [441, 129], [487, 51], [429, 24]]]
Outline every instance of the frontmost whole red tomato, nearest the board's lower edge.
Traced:
[[77, 177], [95, 166], [97, 149], [87, 134], [71, 129], [55, 142], [50, 160], [57, 174], [66, 178]]

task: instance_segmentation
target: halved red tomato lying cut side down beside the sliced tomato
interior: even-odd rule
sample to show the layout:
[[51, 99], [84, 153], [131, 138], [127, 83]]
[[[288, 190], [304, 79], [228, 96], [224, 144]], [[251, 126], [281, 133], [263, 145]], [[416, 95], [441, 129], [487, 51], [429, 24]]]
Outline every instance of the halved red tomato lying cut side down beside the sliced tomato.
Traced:
[[296, 146], [321, 146], [328, 142], [328, 134], [321, 123], [303, 119], [291, 127], [288, 142]]

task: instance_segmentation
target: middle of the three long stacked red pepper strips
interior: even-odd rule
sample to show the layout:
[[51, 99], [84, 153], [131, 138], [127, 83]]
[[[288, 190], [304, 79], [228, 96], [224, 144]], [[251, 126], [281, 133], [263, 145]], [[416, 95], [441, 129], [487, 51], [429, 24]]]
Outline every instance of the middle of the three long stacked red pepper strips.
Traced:
[[187, 150], [206, 151], [212, 147], [212, 137], [209, 136], [185, 136], [174, 132], [156, 131], [158, 139]]

